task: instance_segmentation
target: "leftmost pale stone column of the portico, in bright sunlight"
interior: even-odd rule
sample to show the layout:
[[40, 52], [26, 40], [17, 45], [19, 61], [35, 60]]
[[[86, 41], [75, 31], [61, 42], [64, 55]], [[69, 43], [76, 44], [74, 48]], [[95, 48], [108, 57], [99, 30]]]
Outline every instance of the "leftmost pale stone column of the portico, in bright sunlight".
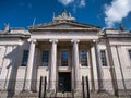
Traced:
[[27, 61], [27, 66], [26, 66], [26, 72], [25, 72], [24, 90], [27, 90], [27, 91], [31, 91], [31, 86], [32, 86], [33, 63], [34, 63], [34, 54], [35, 54], [35, 42], [36, 42], [36, 40], [31, 41], [28, 61]]

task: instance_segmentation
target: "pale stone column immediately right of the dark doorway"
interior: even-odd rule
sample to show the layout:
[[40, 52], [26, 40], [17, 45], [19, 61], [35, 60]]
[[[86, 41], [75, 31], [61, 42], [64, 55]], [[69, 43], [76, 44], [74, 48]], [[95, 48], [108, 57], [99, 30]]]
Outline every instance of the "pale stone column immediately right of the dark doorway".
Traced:
[[73, 83], [74, 83], [74, 89], [78, 90], [79, 89], [79, 85], [80, 85], [80, 76], [79, 76], [79, 41], [80, 40], [71, 40], [71, 42], [73, 42], [73, 50], [72, 50], [72, 64], [73, 64]]

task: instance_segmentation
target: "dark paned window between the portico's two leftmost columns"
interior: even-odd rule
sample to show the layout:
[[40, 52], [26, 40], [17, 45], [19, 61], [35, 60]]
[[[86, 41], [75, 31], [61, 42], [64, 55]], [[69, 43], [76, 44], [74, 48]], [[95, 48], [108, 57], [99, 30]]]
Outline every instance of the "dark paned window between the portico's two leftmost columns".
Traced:
[[44, 50], [41, 54], [41, 65], [43, 66], [48, 66], [48, 61], [49, 61], [49, 51]]

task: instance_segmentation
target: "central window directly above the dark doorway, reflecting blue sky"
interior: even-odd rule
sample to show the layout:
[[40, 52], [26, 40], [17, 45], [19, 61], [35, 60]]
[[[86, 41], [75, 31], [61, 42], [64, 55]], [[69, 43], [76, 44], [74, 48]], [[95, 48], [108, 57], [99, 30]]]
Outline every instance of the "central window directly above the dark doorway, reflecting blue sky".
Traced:
[[68, 66], [69, 52], [68, 50], [61, 50], [61, 66]]

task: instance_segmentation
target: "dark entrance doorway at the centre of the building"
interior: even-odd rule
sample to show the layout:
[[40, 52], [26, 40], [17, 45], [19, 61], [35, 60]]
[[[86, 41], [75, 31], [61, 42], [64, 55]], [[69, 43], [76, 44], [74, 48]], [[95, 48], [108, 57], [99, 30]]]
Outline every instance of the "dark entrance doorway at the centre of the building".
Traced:
[[60, 72], [58, 77], [58, 91], [71, 91], [71, 73]]

